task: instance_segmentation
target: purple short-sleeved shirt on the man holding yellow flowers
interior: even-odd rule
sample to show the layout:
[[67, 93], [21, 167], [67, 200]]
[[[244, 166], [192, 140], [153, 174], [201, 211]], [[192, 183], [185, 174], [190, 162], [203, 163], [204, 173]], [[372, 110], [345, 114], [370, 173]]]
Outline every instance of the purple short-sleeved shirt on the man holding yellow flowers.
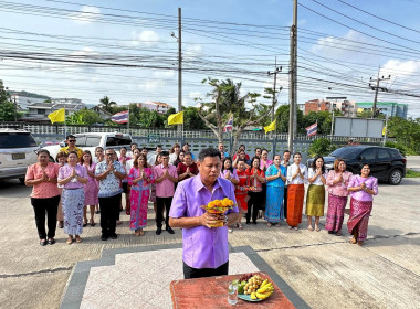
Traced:
[[[200, 174], [181, 181], [170, 206], [171, 217], [200, 216], [207, 205], [213, 200], [228, 198], [237, 204], [234, 190], [229, 180], [218, 178], [213, 191], [210, 192], [201, 182]], [[227, 211], [237, 213], [238, 206]], [[182, 228], [182, 259], [192, 268], [218, 268], [229, 260], [228, 226], [196, 226]]]

